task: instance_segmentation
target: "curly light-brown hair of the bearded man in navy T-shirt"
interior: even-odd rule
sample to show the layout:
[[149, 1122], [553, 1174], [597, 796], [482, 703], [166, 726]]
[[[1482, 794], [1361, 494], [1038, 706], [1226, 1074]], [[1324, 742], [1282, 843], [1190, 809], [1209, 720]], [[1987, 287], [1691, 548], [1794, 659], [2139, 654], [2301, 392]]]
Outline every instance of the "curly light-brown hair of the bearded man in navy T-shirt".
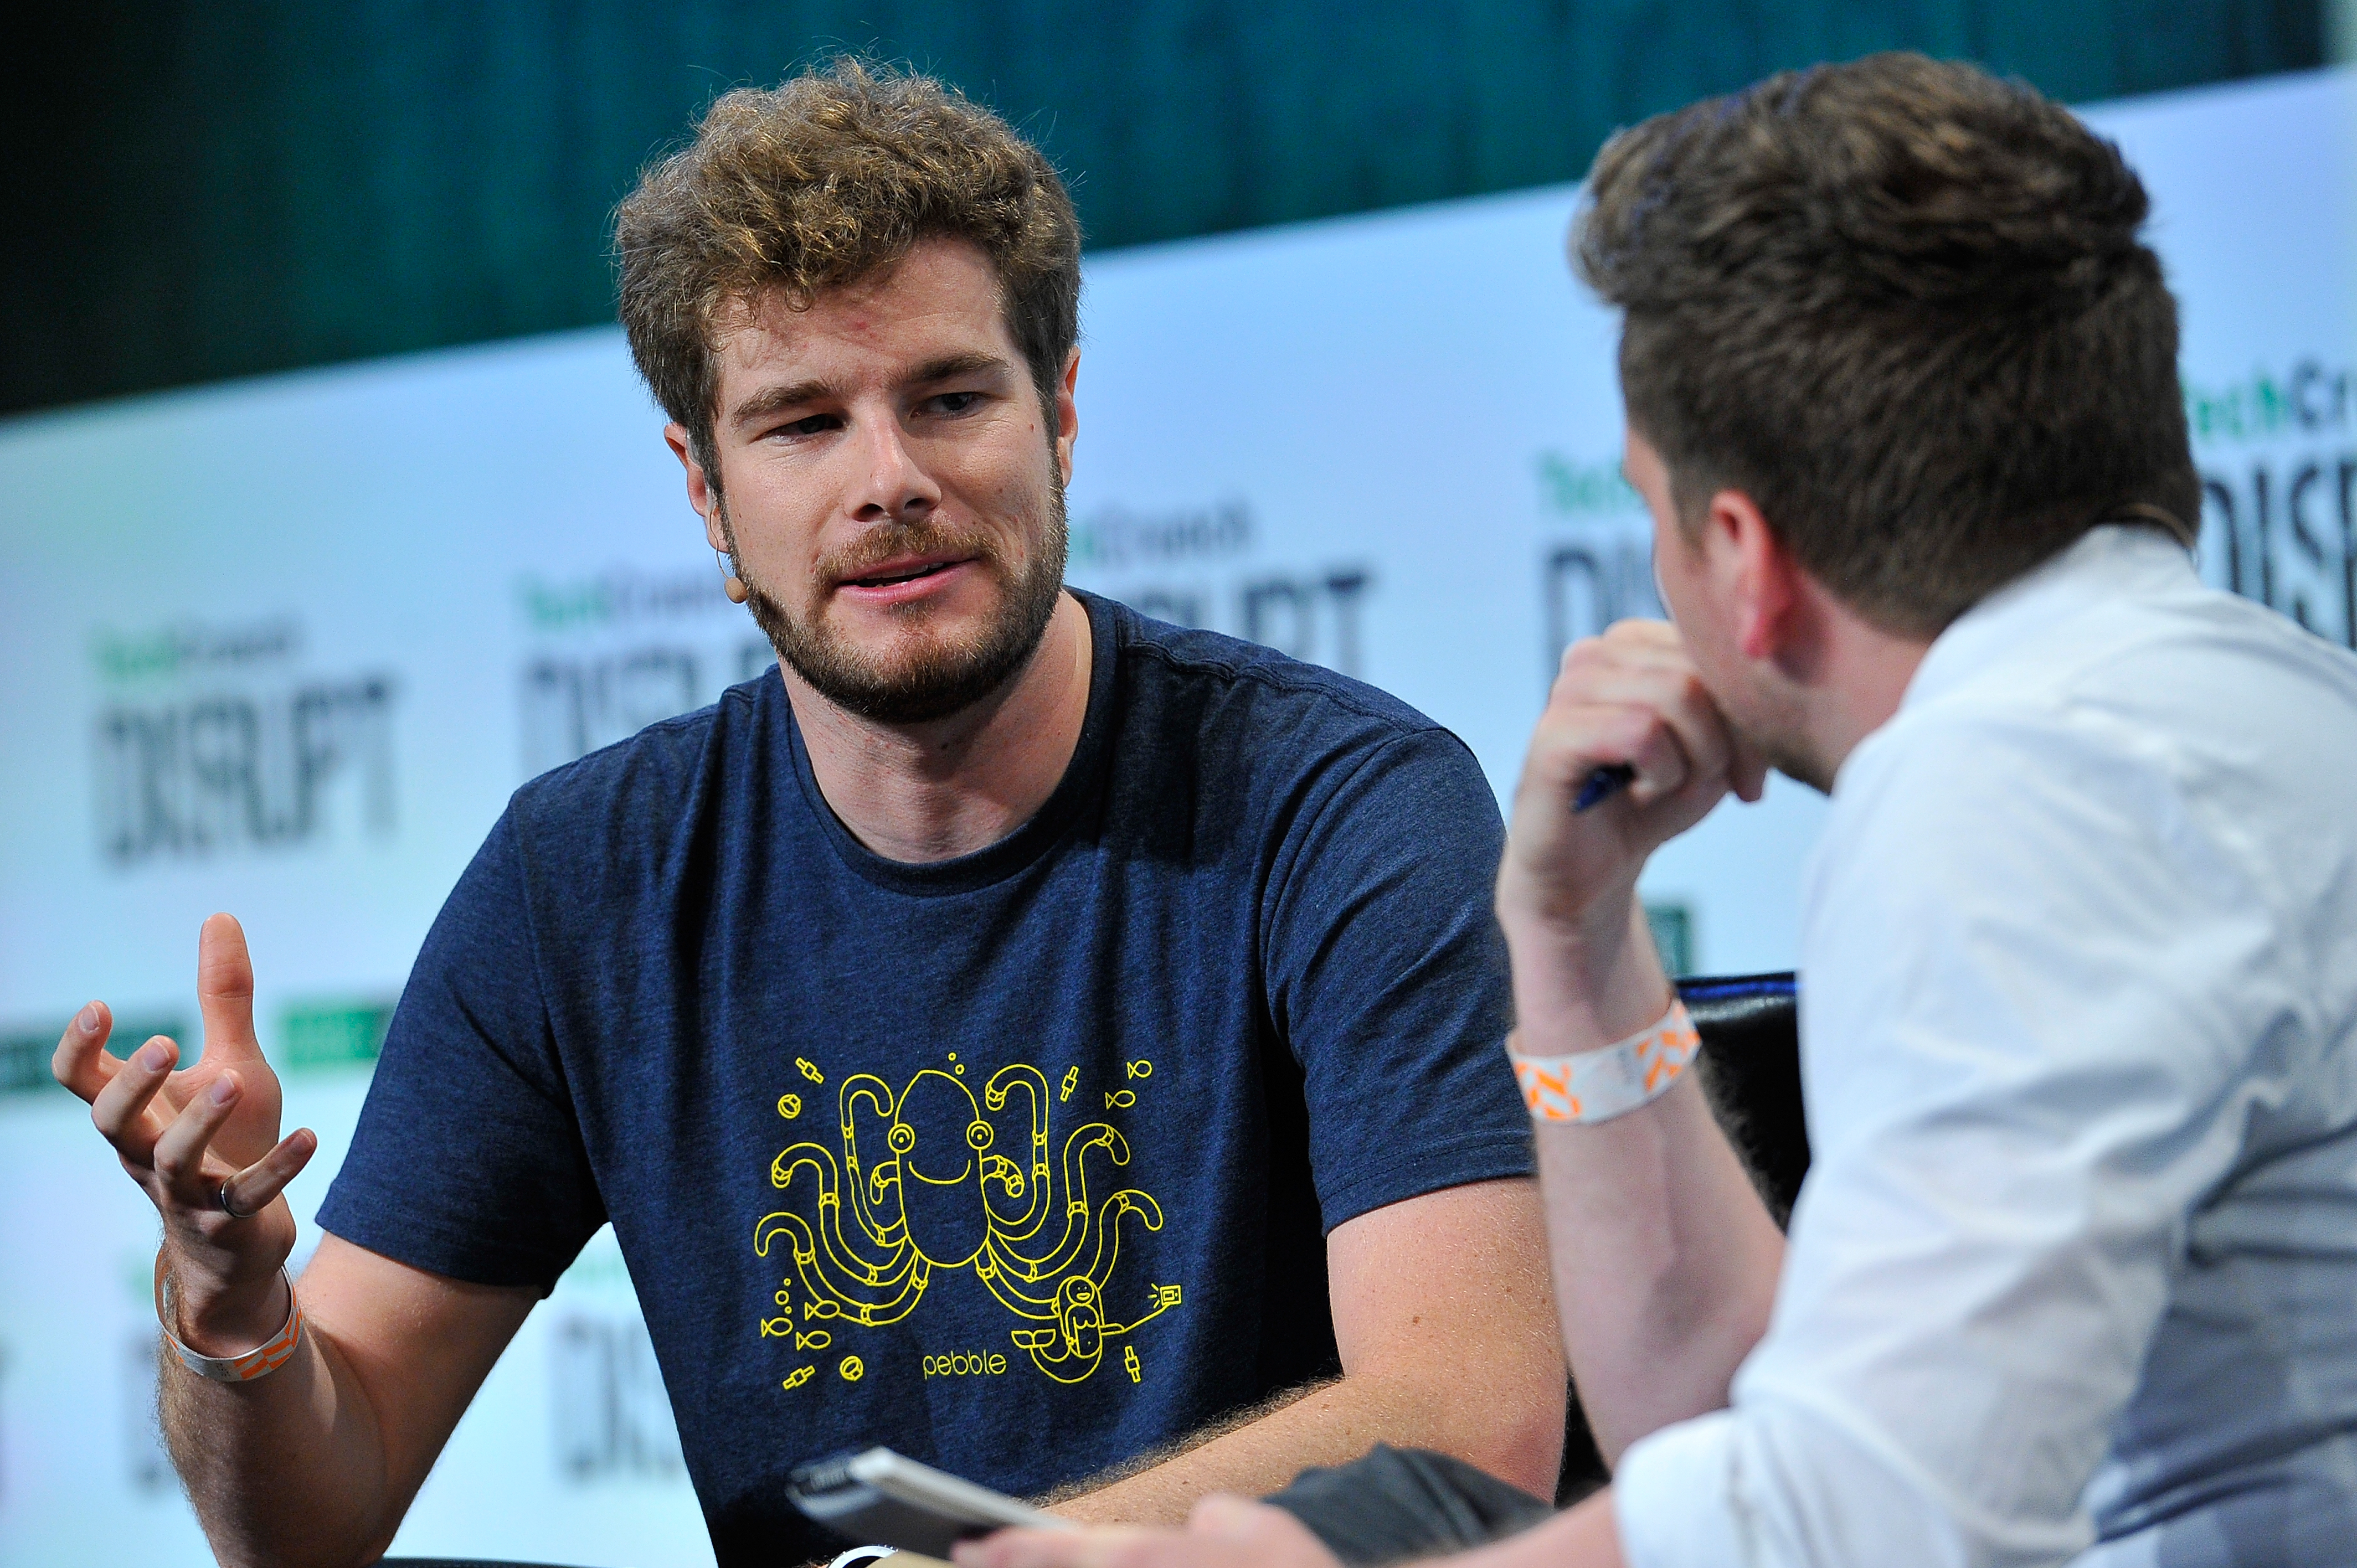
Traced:
[[955, 87], [844, 57], [724, 92], [695, 141], [639, 177], [615, 215], [622, 330], [714, 483], [724, 316], [773, 288], [808, 309], [931, 238], [990, 257], [1006, 328], [1054, 406], [1080, 342], [1080, 219], [1039, 149]]

